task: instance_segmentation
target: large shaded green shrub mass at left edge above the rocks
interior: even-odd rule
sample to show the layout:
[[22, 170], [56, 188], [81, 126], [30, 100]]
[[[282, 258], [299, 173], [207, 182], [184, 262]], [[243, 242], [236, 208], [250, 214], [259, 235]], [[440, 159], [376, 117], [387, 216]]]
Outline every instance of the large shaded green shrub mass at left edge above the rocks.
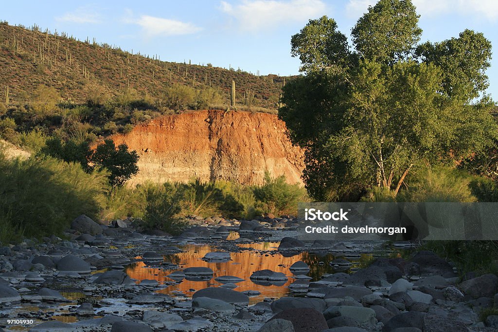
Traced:
[[0, 240], [61, 234], [81, 214], [96, 218], [106, 177], [53, 158], [6, 160], [0, 153]]

